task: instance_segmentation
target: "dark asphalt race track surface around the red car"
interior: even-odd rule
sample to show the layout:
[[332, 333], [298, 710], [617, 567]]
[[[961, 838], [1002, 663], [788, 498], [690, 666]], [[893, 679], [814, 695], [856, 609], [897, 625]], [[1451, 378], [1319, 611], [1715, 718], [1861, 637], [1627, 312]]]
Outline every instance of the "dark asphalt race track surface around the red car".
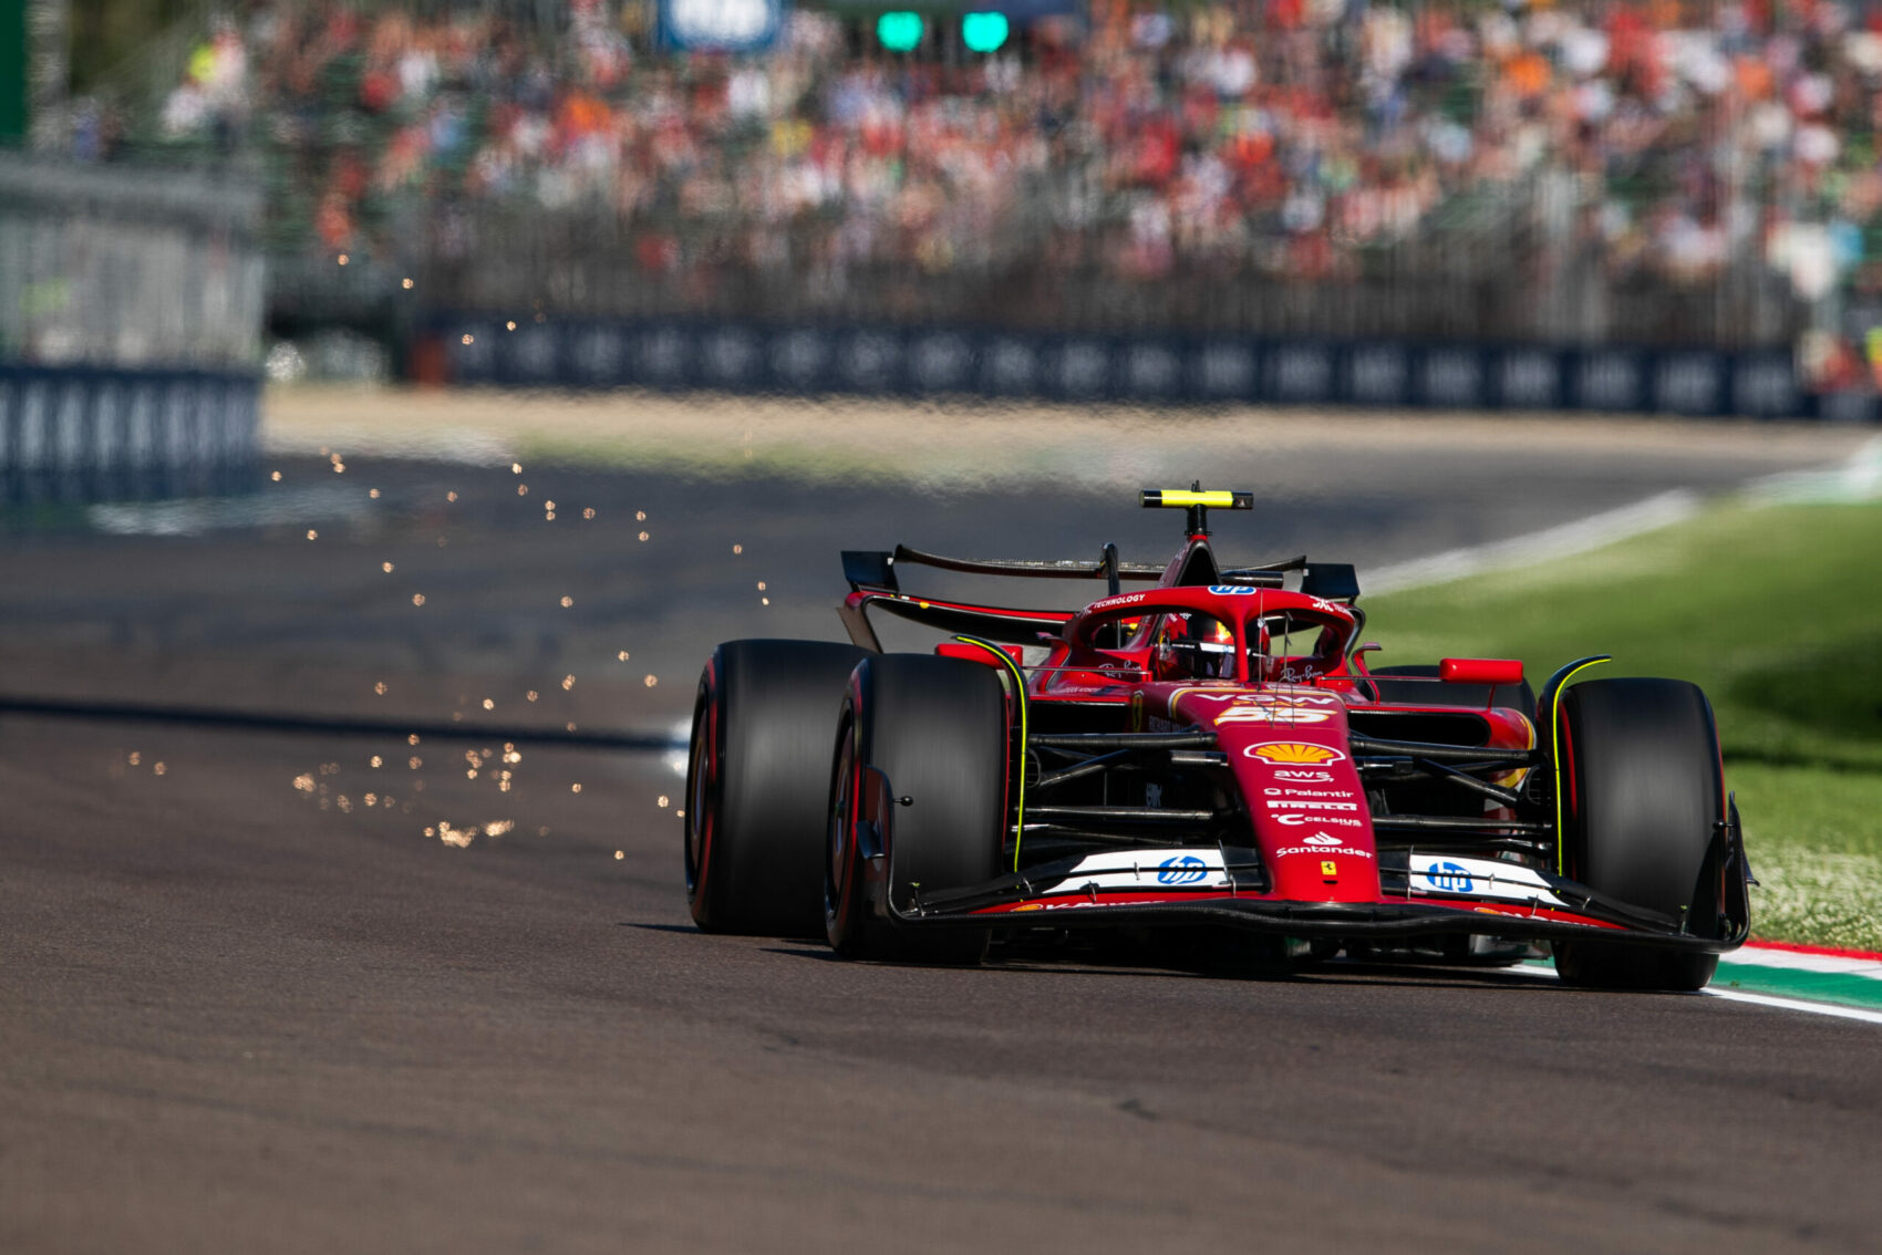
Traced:
[[[1280, 502], [1246, 557], [1404, 559], [1782, 465], [1588, 450], [1538, 487], [1381, 453], [1342, 467], [1359, 508]], [[320, 482], [384, 508], [8, 534], [0, 687], [659, 730], [713, 640], [830, 632], [837, 544], [990, 555], [1037, 525], [1024, 555], [1142, 559], [1171, 523], [523, 478], [527, 508], [508, 470], [358, 463]], [[597, 517], [550, 523], [546, 493]], [[1874, 1025], [706, 937], [664, 755], [514, 753], [0, 715], [0, 1249], [1874, 1249]]]

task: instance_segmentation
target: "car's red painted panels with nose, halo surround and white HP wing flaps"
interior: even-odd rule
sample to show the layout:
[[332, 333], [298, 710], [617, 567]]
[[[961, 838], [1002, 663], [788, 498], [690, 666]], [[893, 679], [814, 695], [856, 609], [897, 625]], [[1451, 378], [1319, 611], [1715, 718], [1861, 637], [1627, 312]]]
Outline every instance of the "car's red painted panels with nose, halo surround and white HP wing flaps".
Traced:
[[[1035, 723], [1058, 706], [1120, 730], [1214, 734], [1216, 751], [1223, 756], [1220, 766], [1233, 775], [1244, 809], [1246, 835], [1238, 841], [1259, 854], [1265, 869], [1259, 886], [1240, 882], [1216, 866], [1201, 871], [1178, 866], [1172, 873], [1167, 862], [1206, 858], [1201, 850], [1178, 850], [1178, 858], [1169, 858], [1172, 850], [1167, 845], [1146, 845], [1137, 858], [1129, 850], [1088, 858], [1078, 875], [1056, 884], [1031, 884], [1035, 892], [1007, 894], [1005, 901], [973, 905], [973, 914], [1067, 909], [1099, 909], [1105, 914], [1105, 907], [1259, 899], [1329, 907], [1417, 903], [1457, 914], [1620, 928], [1570, 909], [1551, 892], [1549, 877], [1517, 862], [1443, 856], [1432, 875], [1412, 847], [1393, 867], [1383, 867], [1368, 790], [1351, 749], [1353, 717], [1459, 719], [1462, 713], [1449, 685], [1432, 679], [1428, 704], [1380, 702], [1364, 651], [1355, 649], [1363, 615], [1353, 606], [1280, 587], [1178, 583], [1182, 572], [1193, 570], [1191, 557], [1199, 549], [1206, 555], [1206, 538], [1191, 536], [1157, 587], [1105, 596], [1082, 612], [973, 606], [869, 587], [858, 587], [847, 598], [843, 612], [851, 623], [860, 621], [866, 608], [881, 606], [933, 627], [979, 628], [1007, 642], [1029, 638], [1033, 647], [1028, 651], [1014, 643], [997, 645], [1003, 659], [992, 653], [992, 642], [954, 640], [939, 645], [937, 653], [1009, 674], [1022, 653], [1031, 655], [1024, 675], [1026, 706]], [[1212, 557], [1208, 568], [1214, 570]], [[1308, 623], [1312, 634], [1261, 642], [1263, 647], [1252, 651], [1259, 625], [1282, 612]], [[1233, 632], [1233, 642], [1225, 642], [1233, 670], [1218, 677], [1174, 674], [1159, 645], [1159, 625], [1184, 613], [1208, 615]], [[1041, 647], [1045, 657], [1039, 657]], [[1259, 660], [1250, 662], [1250, 657]], [[1494, 685], [1523, 683], [1523, 664], [1500, 659], [1447, 659], [1442, 670], [1445, 681], [1492, 685], [1492, 692]], [[1108, 717], [1105, 707], [1112, 707]], [[1479, 721], [1475, 743], [1485, 749], [1536, 747], [1534, 723], [1517, 709], [1487, 702], [1462, 717]], [[1515, 768], [1492, 779], [1517, 786], [1528, 770]], [[1009, 817], [1014, 822], [1024, 822], [1022, 802], [1009, 783]], [[1481, 807], [1485, 822], [1513, 817], [1494, 802], [1483, 800]]]

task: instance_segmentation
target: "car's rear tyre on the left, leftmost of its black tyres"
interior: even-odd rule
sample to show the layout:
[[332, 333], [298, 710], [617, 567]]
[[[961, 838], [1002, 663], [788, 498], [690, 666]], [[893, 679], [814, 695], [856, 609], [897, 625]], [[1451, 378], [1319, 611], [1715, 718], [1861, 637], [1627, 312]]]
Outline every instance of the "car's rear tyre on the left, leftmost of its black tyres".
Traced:
[[687, 755], [687, 907], [710, 933], [822, 935], [830, 730], [866, 651], [734, 640], [700, 675]]

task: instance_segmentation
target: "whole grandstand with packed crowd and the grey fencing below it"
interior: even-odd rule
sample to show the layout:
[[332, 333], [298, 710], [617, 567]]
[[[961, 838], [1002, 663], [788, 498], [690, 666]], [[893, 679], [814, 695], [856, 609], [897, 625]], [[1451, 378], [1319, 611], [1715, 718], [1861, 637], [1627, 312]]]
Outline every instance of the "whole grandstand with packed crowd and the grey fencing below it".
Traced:
[[945, 6], [679, 49], [670, 8], [190, 8], [72, 147], [258, 171], [277, 329], [408, 337], [412, 280], [551, 318], [1799, 348], [1873, 388], [1876, 6], [1045, 2], [990, 51]]

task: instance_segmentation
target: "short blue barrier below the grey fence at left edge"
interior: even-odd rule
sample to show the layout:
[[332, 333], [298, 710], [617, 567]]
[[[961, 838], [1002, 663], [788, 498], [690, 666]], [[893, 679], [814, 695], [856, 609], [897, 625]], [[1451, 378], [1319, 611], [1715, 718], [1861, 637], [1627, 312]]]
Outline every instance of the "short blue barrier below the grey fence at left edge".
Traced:
[[241, 491], [260, 405], [258, 374], [0, 365], [0, 502]]

